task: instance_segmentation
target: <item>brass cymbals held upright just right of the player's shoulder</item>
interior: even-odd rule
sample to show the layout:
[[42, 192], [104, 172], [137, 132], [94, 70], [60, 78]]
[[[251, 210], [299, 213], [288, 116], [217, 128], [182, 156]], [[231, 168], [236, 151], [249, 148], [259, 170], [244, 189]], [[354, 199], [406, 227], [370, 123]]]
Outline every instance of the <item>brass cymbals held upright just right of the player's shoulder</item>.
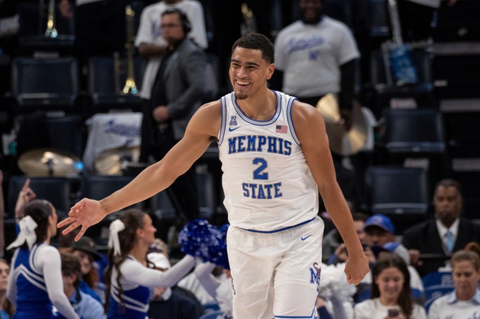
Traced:
[[343, 126], [344, 121], [340, 117], [338, 102], [333, 94], [323, 96], [315, 108], [325, 121], [326, 135], [332, 153], [349, 156], [356, 154], [365, 146], [367, 124], [359, 104], [353, 105], [352, 126], [349, 131]]

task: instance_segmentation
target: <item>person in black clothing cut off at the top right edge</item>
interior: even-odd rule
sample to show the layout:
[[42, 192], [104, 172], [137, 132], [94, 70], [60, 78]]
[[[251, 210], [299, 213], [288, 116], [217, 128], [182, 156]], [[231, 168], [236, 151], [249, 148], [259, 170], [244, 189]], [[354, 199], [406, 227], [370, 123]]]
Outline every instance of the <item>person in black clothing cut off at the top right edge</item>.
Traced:
[[[448, 0], [453, 5], [457, 0]], [[433, 13], [440, 7], [440, 0], [398, 0], [401, 35], [404, 41], [426, 41], [431, 38]]]

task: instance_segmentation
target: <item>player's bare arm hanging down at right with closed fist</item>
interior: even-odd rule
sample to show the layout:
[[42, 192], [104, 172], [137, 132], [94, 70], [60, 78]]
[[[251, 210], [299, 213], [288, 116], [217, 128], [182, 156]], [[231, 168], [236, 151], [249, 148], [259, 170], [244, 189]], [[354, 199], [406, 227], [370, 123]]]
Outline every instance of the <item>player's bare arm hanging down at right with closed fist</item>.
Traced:
[[347, 281], [357, 285], [368, 273], [368, 261], [356, 234], [350, 210], [336, 181], [325, 123], [314, 107], [298, 101], [293, 104], [292, 120], [326, 210], [345, 243], [348, 252], [345, 265]]

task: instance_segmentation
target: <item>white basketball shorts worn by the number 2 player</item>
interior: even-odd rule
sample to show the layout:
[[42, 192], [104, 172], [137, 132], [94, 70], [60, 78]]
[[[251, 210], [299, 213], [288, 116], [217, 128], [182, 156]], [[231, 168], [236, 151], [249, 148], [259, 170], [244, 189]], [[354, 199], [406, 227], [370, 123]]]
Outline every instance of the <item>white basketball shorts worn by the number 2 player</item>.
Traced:
[[274, 233], [229, 227], [235, 319], [314, 319], [323, 221]]

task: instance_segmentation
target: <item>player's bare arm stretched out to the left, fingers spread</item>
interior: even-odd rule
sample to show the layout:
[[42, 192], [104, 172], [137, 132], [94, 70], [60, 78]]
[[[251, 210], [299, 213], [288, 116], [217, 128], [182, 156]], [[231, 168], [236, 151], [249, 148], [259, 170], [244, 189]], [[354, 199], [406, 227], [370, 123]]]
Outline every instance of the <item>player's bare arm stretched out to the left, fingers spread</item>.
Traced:
[[69, 225], [67, 234], [80, 227], [78, 240], [91, 225], [106, 215], [143, 201], [164, 190], [185, 173], [216, 139], [220, 129], [220, 102], [203, 105], [191, 118], [183, 138], [157, 163], [144, 169], [123, 188], [100, 201], [82, 199], [70, 209], [68, 217], [57, 227]]

